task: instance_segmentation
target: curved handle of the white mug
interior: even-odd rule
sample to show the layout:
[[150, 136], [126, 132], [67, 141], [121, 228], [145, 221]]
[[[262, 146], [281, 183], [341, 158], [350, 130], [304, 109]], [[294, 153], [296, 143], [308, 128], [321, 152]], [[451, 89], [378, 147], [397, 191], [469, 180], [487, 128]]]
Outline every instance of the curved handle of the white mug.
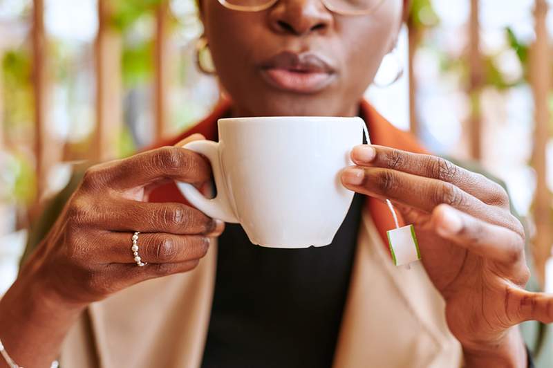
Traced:
[[212, 140], [194, 140], [184, 145], [182, 148], [203, 154], [212, 164], [213, 176], [217, 187], [217, 196], [214, 199], [207, 199], [199, 190], [189, 183], [176, 181], [178, 189], [185, 196], [187, 201], [198, 208], [201, 212], [214, 219], [220, 219], [229, 223], [238, 223], [234, 210], [230, 205], [227, 196], [227, 188], [221, 170], [221, 160], [219, 158], [219, 144]]

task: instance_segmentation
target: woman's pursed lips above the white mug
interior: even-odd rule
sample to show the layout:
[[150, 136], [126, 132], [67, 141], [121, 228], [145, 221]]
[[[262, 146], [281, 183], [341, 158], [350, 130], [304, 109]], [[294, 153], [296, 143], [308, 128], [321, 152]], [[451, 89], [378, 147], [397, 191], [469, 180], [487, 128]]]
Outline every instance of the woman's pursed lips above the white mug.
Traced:
[[261, 74], [271, 86], [283, 91], [315, 93], [335, 78], [335, 70], [313, 53], [284, 51], [262, 64]]

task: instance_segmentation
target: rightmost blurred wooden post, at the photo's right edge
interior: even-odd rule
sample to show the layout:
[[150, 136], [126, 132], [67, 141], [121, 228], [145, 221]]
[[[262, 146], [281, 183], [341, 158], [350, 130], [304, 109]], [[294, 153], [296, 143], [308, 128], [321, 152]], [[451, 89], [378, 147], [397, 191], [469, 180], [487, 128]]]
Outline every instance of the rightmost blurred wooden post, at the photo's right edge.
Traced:
[[550, 139], [549, 95], [551, 89], [551, 54], [547, 33], [547, 0], [536, 0], [534, 9], [536, 42], [530, 59], [530, 79], [534, 93], [535, 120], [534, 152], [532, 162], [536, 170], [536, 194], [534, 197], [534, 260], [538, 276], [543, 281], [545, 260], [550, 255], [552, 233], [552, 195], [547, 188], [547, 141]]

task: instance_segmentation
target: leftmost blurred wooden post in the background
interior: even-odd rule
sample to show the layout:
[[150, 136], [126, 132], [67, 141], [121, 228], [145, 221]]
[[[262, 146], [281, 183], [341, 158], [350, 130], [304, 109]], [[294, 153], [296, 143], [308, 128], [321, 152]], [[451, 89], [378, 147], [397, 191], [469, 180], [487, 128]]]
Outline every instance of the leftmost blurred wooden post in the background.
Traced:
[[[41, 199], [47, 186], [48, 171], [53, 163], [48, 154], [48, 76], [46, 75], [48, 57], [46, 36], [44, 33], [44, 0], [33, 0], [32, 8], [32, 82], [35, 98], [35, 160], [37, 172], [37, 196]], [[53, 142], [50, 142], [52, 146]]]

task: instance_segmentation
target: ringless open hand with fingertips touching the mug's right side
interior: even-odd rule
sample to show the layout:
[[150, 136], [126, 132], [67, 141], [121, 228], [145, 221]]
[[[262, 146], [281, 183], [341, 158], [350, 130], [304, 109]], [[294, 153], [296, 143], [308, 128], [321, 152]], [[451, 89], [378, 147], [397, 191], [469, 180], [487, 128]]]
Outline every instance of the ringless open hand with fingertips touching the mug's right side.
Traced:
[[446, 301], [447, 324], [467, 362], [525, 364], [512, 327], [552, 322], [553, 297], [524, 290], [524, 229], [503, 187], [435, 156], [369, 145], [351, 156], [357, 166], [344, 171], [344, 185], [390, 199], [415, 226], [422, 264]]

